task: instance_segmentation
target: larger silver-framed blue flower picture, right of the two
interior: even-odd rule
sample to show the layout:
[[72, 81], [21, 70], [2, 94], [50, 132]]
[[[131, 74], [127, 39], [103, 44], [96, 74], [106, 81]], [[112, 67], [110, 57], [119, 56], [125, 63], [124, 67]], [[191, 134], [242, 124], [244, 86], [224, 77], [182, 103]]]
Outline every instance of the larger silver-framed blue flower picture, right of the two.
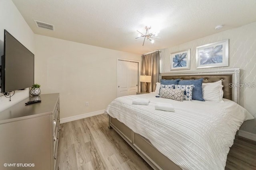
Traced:
[[228, 39], [196, 47], [196, 68], [228, 66]]

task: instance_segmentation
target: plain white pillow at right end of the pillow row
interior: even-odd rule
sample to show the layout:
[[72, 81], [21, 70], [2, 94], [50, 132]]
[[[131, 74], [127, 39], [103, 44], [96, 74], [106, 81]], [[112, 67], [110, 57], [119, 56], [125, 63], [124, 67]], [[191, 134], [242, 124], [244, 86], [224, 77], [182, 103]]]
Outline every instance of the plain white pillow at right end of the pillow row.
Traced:
[[213, 83], [203, 83], [202, 92], [204, 100], [223, 102], [222, 80]]

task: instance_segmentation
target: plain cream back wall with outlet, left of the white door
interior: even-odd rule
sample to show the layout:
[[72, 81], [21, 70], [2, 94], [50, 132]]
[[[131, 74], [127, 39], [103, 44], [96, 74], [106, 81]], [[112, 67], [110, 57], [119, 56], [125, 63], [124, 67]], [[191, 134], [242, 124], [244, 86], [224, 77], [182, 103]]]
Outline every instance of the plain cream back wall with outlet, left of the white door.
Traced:
[[35, 83], [42, 94], [60, 93], [61, 118], [106, 109], [117, 96], [117, 59], [141, 58], [42, 35], [35, 44]]

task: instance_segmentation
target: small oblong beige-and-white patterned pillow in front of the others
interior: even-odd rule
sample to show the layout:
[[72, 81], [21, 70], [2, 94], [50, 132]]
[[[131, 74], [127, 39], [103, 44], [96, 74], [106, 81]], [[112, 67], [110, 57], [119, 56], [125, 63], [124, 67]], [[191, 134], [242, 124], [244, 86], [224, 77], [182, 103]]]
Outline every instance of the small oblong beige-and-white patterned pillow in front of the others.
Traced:
[[160, 97], [182, 102], [184, 96], [184, 90], [173, 88], [162, 88], [160, 90]]

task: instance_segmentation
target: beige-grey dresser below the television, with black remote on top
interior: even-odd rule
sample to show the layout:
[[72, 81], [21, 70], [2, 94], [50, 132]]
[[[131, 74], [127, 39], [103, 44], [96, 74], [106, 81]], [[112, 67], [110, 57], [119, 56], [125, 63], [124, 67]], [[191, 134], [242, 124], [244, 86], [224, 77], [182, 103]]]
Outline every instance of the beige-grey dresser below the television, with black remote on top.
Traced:
[[[25, 106], [35, 99], [42, 102]], [[0, 112], [1, 170], [57, 169], [59, 101], [59, 94], [42, 94]]]

